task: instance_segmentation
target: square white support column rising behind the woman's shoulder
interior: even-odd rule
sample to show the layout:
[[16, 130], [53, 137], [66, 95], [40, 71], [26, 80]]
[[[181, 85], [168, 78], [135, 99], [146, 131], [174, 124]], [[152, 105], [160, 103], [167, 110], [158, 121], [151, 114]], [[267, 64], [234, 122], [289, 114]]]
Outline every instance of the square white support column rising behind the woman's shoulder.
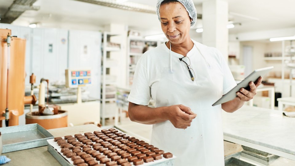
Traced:
[[228, 61], [228, 2], [206, 0], [203, 2], [203, 44], [216, 47]]

